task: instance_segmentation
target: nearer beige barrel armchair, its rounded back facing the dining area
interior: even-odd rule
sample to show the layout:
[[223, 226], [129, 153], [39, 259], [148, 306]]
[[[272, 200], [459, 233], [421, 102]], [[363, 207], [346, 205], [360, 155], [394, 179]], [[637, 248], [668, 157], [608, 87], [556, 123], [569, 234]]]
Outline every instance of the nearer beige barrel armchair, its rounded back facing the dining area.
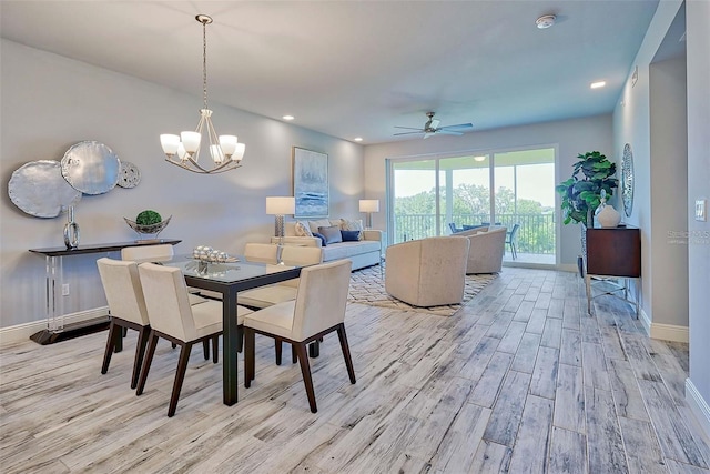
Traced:
[[385, 290], [414, 306], [460, 303], [466, 285], [468, 239], [436, 236], [387, 248]]

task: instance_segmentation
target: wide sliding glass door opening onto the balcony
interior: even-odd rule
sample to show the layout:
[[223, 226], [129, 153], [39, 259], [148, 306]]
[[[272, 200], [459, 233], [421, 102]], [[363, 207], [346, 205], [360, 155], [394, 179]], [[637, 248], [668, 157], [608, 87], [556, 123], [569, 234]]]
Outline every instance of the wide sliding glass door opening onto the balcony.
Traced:
[[[555, 263], [555, 149], [388, 160], [393, 243], [481, 225], [517, 231], [515, 260]], [[506, 260], [514, 260], [507, 244]]]

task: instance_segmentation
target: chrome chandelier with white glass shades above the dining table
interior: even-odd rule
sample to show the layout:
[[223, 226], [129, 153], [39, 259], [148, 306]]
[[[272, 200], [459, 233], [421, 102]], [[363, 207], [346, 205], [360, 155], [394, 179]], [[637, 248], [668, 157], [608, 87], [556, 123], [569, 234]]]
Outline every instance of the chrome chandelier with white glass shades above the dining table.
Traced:
[[[180, 135], [162, 134], [160, 143], [165, 153], [165, 161], [187, 171], [202, 174], [223, 173], [242, 165], [245, 144], [236, 141], [236, 135], [217, 135], [212, 125], [212, 111], [207, 109], [207, 24], [212, 18], [206, 14], [195, 17], [202, 23], [202, 100], [200, 122], [194, 132], [181, 132]], [[200, 164], [200, 149], [203, 143], [203, 131], [210, 142], [212, 162]], [[204, 165], [203, 165], [204, 164]]]

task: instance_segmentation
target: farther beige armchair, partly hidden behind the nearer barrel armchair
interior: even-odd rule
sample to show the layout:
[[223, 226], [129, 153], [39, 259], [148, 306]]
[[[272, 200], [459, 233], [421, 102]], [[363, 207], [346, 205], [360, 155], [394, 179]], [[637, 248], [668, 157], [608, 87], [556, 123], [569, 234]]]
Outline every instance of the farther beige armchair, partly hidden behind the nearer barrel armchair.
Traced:
[[500, 272], [503, 254], [506, 248], [506, 228], [496, 225], [457, 232], [449, 238], [466, 238], [470, 243], [466, 261], [466, 274]]

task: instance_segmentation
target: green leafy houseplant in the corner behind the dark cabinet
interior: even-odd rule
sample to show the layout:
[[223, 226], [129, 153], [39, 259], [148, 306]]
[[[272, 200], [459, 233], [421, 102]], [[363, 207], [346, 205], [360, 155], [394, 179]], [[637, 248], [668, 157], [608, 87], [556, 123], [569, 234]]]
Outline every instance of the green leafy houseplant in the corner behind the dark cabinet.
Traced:
[[619, 185], [619, 180], [613, 178], [617, 165], [598, 151], [578, 154], [577, 158], [579, 161], [572, 167], [572, 175], [555, 190], [562, 198], [562, 222], [569, 224], [574, 221], [591, 226], [591, 215], [601, 203], [601, 190], [609, 199], [613, 195], [612, 189]]

